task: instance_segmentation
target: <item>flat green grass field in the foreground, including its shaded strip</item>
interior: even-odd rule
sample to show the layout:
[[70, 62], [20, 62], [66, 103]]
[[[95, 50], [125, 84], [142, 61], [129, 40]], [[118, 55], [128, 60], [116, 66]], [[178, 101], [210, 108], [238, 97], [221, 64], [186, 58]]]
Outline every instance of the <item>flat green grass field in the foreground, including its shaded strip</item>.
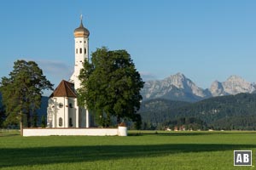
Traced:
[[128, 137], [20, 137], [0, 132], [0, 169], [256, 169], [234, 167], [253, 132], [129, 132]]

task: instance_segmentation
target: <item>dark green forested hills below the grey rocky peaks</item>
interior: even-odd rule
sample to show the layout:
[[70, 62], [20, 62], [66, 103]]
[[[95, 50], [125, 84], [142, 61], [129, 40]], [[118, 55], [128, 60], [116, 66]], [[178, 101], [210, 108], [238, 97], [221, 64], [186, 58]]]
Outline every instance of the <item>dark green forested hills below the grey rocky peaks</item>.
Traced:
[[[142, 103], [139, 113], [144, 122], [151, 122], [158, 129], [180, 124], [191, 127], [189, 118], [194, 117], [204, 122], [202, 129], [256, 130], [255, 103], [256, 94], [221, 96], [196, 103], [152, 99]], [[188, 121], [181, 123], [183, 118]], [[194, 124], [201, 125], [200, 122]]]

